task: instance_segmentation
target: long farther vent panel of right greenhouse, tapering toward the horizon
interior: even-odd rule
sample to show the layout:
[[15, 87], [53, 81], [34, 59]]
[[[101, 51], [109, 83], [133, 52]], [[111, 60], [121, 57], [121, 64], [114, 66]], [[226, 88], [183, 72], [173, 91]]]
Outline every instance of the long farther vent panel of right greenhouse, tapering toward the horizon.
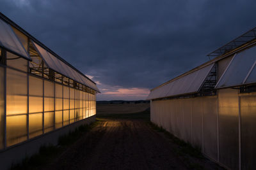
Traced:
[[214, 64], [205, 66], [202, 69], [198, 69], [193, 73], [182, 76], [177, 80], [170, 81], [170, 83], [152, 90], [147, 99], [157, 99], [161, 97], [171, 97], [198, 92], [202, 83], [204, 83], [205, 78], [211, 71], [212, 66], [214, 66]]

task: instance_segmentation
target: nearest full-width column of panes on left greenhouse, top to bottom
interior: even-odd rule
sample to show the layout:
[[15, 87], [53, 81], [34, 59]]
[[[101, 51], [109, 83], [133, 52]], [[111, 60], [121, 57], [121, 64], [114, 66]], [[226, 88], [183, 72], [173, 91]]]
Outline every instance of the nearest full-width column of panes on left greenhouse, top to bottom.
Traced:
[[28, 61], [6, 53], [6, 145], [28, 139]]

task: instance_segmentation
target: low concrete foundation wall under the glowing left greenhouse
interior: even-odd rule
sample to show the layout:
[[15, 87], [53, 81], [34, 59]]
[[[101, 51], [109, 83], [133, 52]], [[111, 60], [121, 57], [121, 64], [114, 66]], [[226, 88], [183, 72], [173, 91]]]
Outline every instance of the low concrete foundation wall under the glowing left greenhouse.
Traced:
[[18, 145], [12, 146], [0, 153], [0, 169], [8, 169], [12, 164], [16, 164], [22, 161], [25, 157], [30, 157], [31, 155], [39, 151], [40, 146], [43, 145], [58, 145], [58, 138], [70, 131], [74, 131], [76, 127], [84, 124], [90, 124], [95, 121], [95, 115], [88, 117], [86, 119], [80, 120], [74, 124], [67, 125], [56, 131], [46, 133], [42, 136], [30, 139]]

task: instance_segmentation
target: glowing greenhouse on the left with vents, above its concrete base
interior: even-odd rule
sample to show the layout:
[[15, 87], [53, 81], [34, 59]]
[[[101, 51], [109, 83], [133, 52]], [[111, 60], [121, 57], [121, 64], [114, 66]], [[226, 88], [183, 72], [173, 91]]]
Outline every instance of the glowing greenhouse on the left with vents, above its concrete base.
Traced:
[[96, 84], [0, 13], [0, 150], [96, 114]]

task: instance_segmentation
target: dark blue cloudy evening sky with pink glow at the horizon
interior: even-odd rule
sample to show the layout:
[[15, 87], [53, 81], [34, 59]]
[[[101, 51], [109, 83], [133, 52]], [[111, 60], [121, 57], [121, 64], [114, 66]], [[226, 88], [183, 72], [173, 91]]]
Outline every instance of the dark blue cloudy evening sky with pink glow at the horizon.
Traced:
[[146, 99], [256, 27], [256, 1], [0, 0], [0, 11], [97, 83], [100, 100]]

